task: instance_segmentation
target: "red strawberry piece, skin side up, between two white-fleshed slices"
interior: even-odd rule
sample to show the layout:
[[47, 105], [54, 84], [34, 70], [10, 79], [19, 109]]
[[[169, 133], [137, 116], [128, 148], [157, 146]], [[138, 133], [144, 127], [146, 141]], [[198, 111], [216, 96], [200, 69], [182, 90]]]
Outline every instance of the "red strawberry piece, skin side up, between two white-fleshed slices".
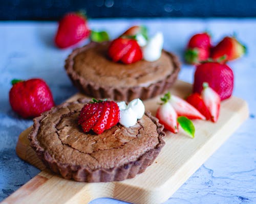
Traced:
[[204, 104], [203, 98], [198, 93], [193, 93], [187, 97], [187, 102], [194, 106], [200, 113], [202, 113], [206, 120], [211, 119], [211, 114]]

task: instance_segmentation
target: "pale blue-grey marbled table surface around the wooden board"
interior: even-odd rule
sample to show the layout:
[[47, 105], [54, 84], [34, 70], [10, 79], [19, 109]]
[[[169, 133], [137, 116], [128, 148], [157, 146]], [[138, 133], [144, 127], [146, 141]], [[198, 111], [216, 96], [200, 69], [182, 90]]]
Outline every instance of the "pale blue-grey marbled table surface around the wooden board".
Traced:
[[[233, 94], [247, 100], [250, 117], [165, 203], [256, 203], [256, 19], [90, 20], [92, 29], [106, 30], [113, 38], [135, 23], [145, 24], [152, 34], [162, 31], [164, 48], [181, 59], [188, 38], [205, 30], [210, 31], [214, 42], [236, 32], [247, 45], [247, 55], [229, 65], [235, 76]], [[10, 81], [42, 78], [56, 104], [77, 92], [63, 69], [72, 48], [60, 50], [53, 45], [56, 26], [55, 22], [0, 22], [0, 200], [39, 172], [15, 154], [18, 135], [32, 120], [22, 119], [11, 110]], [[193, 66], [183, 64], [179, 79], [191, 83], [193, 73]], [[97, 203], [125, 202], [110, 198], [91, 201]]]

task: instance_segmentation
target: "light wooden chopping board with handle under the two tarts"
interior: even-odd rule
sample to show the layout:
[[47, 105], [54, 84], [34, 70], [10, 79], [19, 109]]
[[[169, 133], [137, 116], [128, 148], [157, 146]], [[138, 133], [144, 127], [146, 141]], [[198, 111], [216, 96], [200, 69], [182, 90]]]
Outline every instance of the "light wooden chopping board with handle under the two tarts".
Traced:
[[[177, 81], [170, 90], [181, 97], [191, 93], [191, 84]], [[68, 101], [84, 97], [76, 94]], [[159, 97], [144, 101], [153, 115]], [[111, 197], [138, 204], [162, 203], [192, 175], [248, 117], [243, 99], [232, 96], [221, 103], [217, 123], [194, 120], [195, 138], [181, 131], [166, 132], [165, 146], [155, 162], [134, 179], [109, 183], [81, 183], [62, 179], [46, 169], [29, 146], [27, 135], [31, 127], [20, 134], [17, 155], [42, 171], [32, 180], [3, 200], [2, 203], [89, 203], [100, 197]], [[220, 158], [221, 159], [221, 158]]]

